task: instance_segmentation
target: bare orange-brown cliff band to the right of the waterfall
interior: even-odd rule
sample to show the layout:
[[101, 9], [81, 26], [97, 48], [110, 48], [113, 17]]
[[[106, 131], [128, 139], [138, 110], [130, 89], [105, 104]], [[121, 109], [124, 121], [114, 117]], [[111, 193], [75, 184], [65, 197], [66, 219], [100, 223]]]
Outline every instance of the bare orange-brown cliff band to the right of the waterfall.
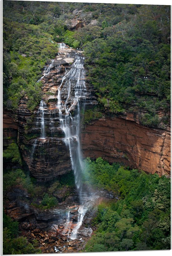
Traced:
[[85, 157], [101, 156], [111, 163], [160, 176], [170, 174], [170, 129], [153, 129], [135, 122], [133, 114], [104, 116], [86, 125], [82, 132]]

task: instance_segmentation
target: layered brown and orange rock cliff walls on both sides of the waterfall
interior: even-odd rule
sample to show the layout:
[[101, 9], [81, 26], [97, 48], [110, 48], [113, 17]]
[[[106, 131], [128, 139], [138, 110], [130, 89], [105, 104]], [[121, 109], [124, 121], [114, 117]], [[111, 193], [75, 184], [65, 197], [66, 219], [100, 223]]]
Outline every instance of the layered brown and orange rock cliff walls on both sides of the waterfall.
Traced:
[[[4, 111], [4, 145], [8, 145], [8, 137], [18, 138], [23, 160], [38, 181], [51, 180], [72, 168], [69, 149], [64, 143], [64, 132], [60, 128], [57, 94], [64, 74], [72, 68], [77, 56], [82, 58], [82, 52], [62, 49], [52, 63], [45, 67], [44, 74], [47, 74], [42, 77], [42, 109], [38, 106], [31, 113], [27, 109], [28, 99], [25, 96], [18, 106], [18, 114]], [[70, 81], [69, 97], [66, 83], [61, 88], [61, 99], [65, 101], [68, 97], [68, 106], [73, 105], [76, 83], [76, 79]], [[93, 87], [87, 80], [85, 85], [88, 92], [85, 108], [91, 109], [98, 102]], [[44, 113], [45, 138], [41, 136], [41, 111]], [[116, 161], [148, 173], [156, 172], [160, 176], [170, 174], [169, 126], [165, 129], [141, 126], [135, 113], [125, 113], [121, 116], [104, 114], [104, 117], [83, 125], [81, 145], [84, 157], [95, 159], [101, 156], [110, 163]]]

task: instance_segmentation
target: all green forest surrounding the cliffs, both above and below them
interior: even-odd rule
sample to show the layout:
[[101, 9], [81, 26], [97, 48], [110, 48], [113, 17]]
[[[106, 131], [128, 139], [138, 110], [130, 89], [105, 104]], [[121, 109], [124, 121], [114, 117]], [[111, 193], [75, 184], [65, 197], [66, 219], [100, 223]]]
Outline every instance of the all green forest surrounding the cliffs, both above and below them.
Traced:
[[[83, 52], [86, 79], [94, 86], [98, 106], [81, 111], [82, 125], [125, 112], [137, 113], [139, 123], [151, 128], [163, 129], [170, 122], [170, 6], [4, 0], [4, 110], [18, 113], [26, 96], [33, 113], [43, 96], [37, 81], [58, 54], [57, 42]], [[18, 139], [4, 139], [4, 202], [18, 186], [34, 209], [58, 207], [54, 192], [65, 187], [62, 202], [69, 196], [75, 188], [73, 172], [40, 184], [26, 168]], [[84, 160], [82, 179], [85, 186], [114, 195], [98, 205], [91, 221], [94, 234], [82, 252], [170, 249], [169, 177], [99, 157]], [[19, 221], [4, 209], [3, 254], [23, 253], [41, 253], [38, 241], [29, 242]]]

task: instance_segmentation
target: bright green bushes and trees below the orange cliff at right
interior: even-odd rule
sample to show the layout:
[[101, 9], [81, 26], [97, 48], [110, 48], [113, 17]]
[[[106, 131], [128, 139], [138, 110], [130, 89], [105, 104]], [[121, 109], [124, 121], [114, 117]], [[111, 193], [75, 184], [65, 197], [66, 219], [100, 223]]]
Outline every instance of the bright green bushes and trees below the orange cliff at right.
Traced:
[[85, 182], [112, 191], [120, 200], [102, 203], [93, 220], [97, 231], [86, 252], [170, 249], [170, 179], [85, 161]]

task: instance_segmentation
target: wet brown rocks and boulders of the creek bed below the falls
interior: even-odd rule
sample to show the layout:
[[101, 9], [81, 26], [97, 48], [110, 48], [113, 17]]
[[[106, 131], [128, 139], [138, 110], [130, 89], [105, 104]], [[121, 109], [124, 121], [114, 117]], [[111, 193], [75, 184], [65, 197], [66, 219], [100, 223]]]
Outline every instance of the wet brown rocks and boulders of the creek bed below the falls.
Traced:
[[[28, 241], [37, 241], [42, 253], [75, 253], [82, 251], [96, 229], [91, 221], [96, 216], [97, 206], [102, 201], [116, 200], [113, 193], [105, 190], [94, 191], [95, 199], [90, 203], [78, 229], [77, 239], [71, 240], [70, 234], [78, 222], [78, 192], [77, 190], [51, 209], [39, 209], [31, 205], [31, 197], [20, 186], [7, 193], [5, 213], [19, 222], [21, 235]], [[68, 219], [68, 213], [70, 218]]]

